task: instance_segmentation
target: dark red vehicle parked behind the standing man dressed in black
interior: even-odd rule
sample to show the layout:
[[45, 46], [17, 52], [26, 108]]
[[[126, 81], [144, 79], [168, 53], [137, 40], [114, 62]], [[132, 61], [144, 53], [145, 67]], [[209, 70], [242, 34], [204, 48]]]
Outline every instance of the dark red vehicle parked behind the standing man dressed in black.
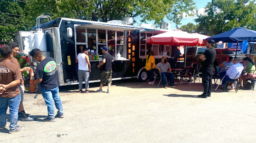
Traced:
[[[198, 65], [201, 65], [201, 59], [199, 56], [208, 48], [206, 46], [188, 46], [186, 47], [186, 65], [190, 65], [192, 60], [195, 59]], [[229, 48], [215, 48], [216, 57], [213, 62], [214, 66], [219, 65], [223, 61], [228, 59], [228, 56], [234, 58], [235, 52]], [[237, 54], [237, 57], [243, 58], [244, 54]]]

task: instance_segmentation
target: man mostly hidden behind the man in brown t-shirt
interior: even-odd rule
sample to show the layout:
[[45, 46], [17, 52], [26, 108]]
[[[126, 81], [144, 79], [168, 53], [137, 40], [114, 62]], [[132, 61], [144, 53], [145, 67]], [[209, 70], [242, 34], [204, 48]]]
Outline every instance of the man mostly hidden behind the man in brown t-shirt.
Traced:
[[[15, 43], [15, 42], [13, 42], [13, 41], [11, 41], [11, 42], [8, 43], [8, 45], [12, 47], [12, 55], [13, 55], [13, 56], [16, 56], [16, 55], [18, 54], [18, 51], [19, 51], [18, 44]], [[17, 64], [17, 65], [20, 67], [20, 65], [19, 65], [19, 63], [18, 63], [18, 60], [17, 60], [15, 57], [12, 57], [12, 58], [10, 59], [10, 61], [13, 62], [13, 63], [15, 63], [15, 64]], [[30, 70], [29, 67], [23, 67], [23, 68], [21, 68], [21, 69], [20, 69], [21, 75], [22, 75], [22, 73], [24, 73], [25, 71], [26, 71], [27, 73], [29, 73], [29, 70]], [[29, 117], [28, 114], [25, 113], [24, 106], [23, 106], [23, 98], [24, 98], [24, 80], [23, 80], [23, 79], [20, 80], [20, 83], [19, 83], [19, 85], [18, 85], [18, 88], [19, 88], [19, 90], [20, 90], [20, 97], [21, 97], [21, 98], [20, 98], [20, 104], [19, 104], [19, 106], [18, 106], [18, 117], [21, 117], [21, 120], [22, 120], [22, 121], [33, 121], [34, 119], [31, 118], [31, 117]]]

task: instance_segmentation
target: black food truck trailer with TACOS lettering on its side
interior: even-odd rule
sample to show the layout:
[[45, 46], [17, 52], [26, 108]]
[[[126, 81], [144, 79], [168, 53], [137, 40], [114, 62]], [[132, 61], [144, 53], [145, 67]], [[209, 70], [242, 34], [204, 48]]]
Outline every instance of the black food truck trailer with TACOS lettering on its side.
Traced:
[[[153, 50], [155, 63], [160, 62], [164, 55], [174, 64], [174, 48], [170, 45], [148, 44], [146, 38], [168, 31], [168, 29], [154, 28], [152, 25], [133, 26], [126, 21], [112, 20], [98, 22], [90, 20], [56, 18], [48, 22], [37, 24], [28, 35], [30, 51], [39, 48], [44, 56], [53, 57], [57, 63], [58, 84], [78, 84], [76, 55], [83, 45], [89, 49], [91, 72], [89, 82], [100, 81], [101, 70], [97, 65], [102, 60], [100, 47], [107, 46], [113, 56], [112, 80], [138, 78], [147, 80], [144, 69], [146, 55]], [[96, 57], [96, 58], [93, 58]], [[97, 58], [98, 57], [98, 58]], [[31, 58], [31, 63], [35, 60]], [[172, 64], [173, 63], [173, 64]]]

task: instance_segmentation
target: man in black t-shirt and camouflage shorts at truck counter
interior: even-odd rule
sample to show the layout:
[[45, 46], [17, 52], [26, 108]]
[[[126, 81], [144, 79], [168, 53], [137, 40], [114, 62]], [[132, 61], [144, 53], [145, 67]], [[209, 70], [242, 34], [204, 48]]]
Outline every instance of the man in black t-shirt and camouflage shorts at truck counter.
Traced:
[[101, 47], [102, 49], [102, 61], [97, 65], [98, 68], [101, 66], [101, 78], [100, 78], [100, 86], [97, 92], [102, 92], [102, 86], [107, 82], [107, 93], [110, 93], [110, 85], [112, 79], [112, 55], [107, 51], [108, 48], [106, 46]]

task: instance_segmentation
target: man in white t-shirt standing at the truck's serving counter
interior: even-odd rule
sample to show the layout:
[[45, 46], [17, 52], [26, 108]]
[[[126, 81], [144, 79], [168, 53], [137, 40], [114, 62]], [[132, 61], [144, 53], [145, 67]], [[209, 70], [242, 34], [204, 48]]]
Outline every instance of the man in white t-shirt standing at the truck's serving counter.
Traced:
[[89, 73], [90, 61], [88, 54], [88, 48], [83, 47], [82, 53], [77, 54], [75, 62], [78, 63], [78, 82], [79, 82], [79, 93], [82, 92], [82, 81], [85, 81], [85, 93], [89, 92]]

